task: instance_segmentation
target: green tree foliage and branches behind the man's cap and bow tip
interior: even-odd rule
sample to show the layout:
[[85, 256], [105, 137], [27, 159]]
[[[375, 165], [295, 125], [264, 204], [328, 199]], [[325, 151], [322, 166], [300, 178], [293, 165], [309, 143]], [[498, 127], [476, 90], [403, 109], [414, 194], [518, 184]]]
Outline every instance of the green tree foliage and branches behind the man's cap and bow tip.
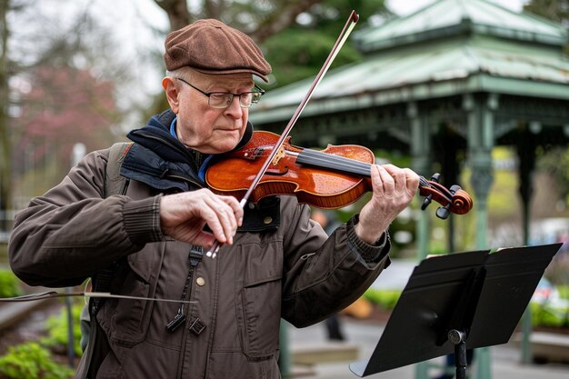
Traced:
[[[374, 15], [391, 15], [384, 0], [204, 0], [193, 10], [187, 0], [155, 2], [165, 10], [172, 30], [195, 19], [217, 18], [250, 35], [273, 65], [274, 75], [269, 85], [272, 88], [315, 75], [352, 10], [359, 13], [360, 25]], [[345, 65], [360, 58], [359, 53], [346, 44], [334, 65]]]

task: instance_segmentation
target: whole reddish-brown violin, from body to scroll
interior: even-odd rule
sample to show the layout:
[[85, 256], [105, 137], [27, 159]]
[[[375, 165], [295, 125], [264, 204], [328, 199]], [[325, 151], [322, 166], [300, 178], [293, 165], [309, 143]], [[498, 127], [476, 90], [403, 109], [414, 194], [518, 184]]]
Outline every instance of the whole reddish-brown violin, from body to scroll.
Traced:
[[[288, 136], [274, 153], [279, 138], [274, 133], [255, 131], [245, 146], [221, 155], [209, 166], [205, 182], [215, 194], [243, 198], [267, 156], [274, 155], [250, 196], [255, 203], [266, 196], [289, 194], [296, 196], [299, 203], [336, 209], [353, 204], [372, 191], [371, 166], [375, 156], [368, 148], [328, 145], [322, 151], [312, 150], [291, 145]], [[441, 204], [436, 214], [443, 219], [449, 214], [470, 211], [470, 196], [458, 185], [445, 188], [438, 183], [438, 177], [420, 177], [419, 194], [425, 196], [422, 209], [434, 200]]]

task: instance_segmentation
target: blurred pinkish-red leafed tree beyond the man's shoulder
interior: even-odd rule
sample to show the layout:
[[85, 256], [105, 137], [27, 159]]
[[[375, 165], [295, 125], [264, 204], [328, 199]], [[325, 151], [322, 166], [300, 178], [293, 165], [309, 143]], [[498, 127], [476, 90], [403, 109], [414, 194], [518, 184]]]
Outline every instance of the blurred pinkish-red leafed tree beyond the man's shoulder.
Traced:
[[[16, 170], [24, 171], [45, 169], [55, 160], [56, 172], [49, 175], [52, 183], [42, 183], [40, 187], [44, 187], [54, 185], [68, 171], [75, 144], [84, 144], [86, 151], [110, 145], [120, 114], [114, 83], [98, 80], [88, 70], [41, 66], [29, 82], [29, 91], [21, 94], [13, 162], [20, 162]], [[17, 159], [24, 154], [25, 159]]]

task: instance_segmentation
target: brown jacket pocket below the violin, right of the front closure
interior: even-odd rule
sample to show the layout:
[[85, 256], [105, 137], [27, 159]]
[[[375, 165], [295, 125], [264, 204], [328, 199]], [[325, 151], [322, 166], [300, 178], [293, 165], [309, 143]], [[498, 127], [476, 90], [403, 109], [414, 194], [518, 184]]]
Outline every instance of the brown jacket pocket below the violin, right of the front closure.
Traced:
[[[237, 321], [243, 352], [250, 360], [270, 359], [278, 348], [281, 319], [282, 254], [280, 244], [243, 244], [242, 274], [237, 274]], [[239, 304], [241, 306], [239, 306]]]

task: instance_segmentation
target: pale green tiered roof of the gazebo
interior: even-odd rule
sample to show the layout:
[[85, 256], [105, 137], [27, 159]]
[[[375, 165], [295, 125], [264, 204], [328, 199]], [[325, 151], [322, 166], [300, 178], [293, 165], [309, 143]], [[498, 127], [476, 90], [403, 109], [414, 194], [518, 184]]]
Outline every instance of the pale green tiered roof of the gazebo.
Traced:
[[[441, 0], [354, 40], [364, 59], [330, 70], [303, 115], [474, 92], [569, 99], [564, 29], [483, 0]], [[252, 120], [290, 118], [312, 80], [270, 91]]]

